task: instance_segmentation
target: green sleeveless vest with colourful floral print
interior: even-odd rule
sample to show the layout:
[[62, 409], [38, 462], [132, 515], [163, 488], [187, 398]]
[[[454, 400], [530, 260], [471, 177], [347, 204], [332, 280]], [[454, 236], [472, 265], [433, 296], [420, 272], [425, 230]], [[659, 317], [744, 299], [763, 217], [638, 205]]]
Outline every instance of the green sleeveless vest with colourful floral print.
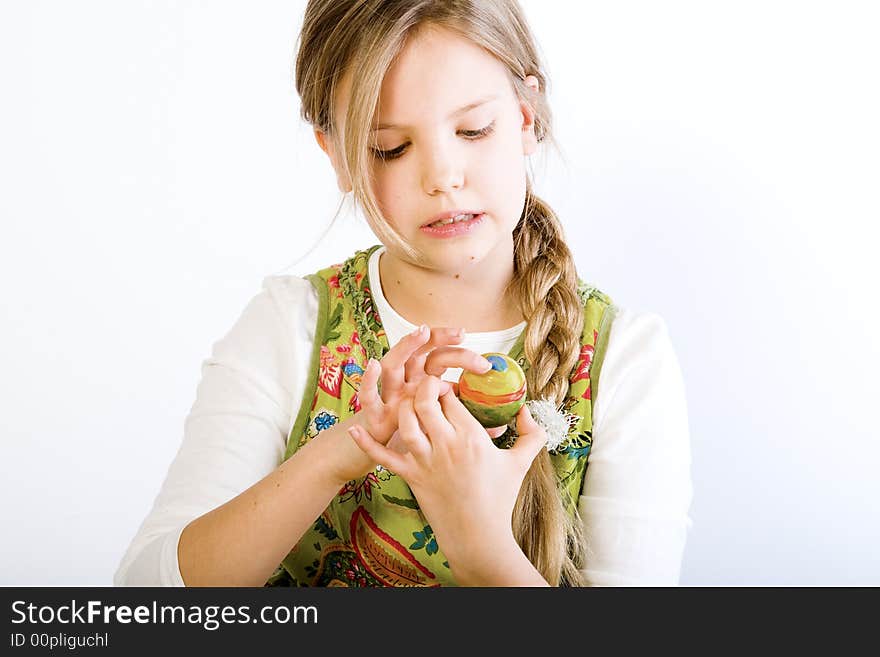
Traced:
[[[389, 345], [370, 292], [368, 262], [380, 245], [343, 264], [307, 276], [318, 292], [318, 321], [310, 376], [284, 458], [319, 432], [360, 410], [358, 388], [367, 360]], [[579, 418], [567, 443], [551, 452], [570, 513], [592, 444], [592, 391], [616, 312], [611, 299], [579, 282], [584, 304], [580, 357], [571, 372], [564, 409]], [[523, 335], [510, 356], [528, 370]], [[591, 381], [592, 380], [592, 381]], [[509, 430], [495, 439], [509, 447]], [[266, 582], [266, 586], [455, 586], [442, 546], [406, 482], [377, 466], [337, 493]]]

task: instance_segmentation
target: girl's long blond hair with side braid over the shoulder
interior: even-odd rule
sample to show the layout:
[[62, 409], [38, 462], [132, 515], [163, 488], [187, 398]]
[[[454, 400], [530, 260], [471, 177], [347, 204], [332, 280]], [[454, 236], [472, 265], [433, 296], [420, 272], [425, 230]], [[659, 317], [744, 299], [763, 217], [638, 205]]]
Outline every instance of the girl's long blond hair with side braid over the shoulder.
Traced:
[[[333, 140], [353, 196], [373, 232], [418, 262], [413, 249], [383, 218], [370, 186], [370, 126], [386, 72], [418, 30], [434, 26], [479, 45], [502, 62], [516, 95], [535, 113], [538, 141], [552, 142], [547, 78], [522, 9], [515, 0], [309, 0], [296, 57], [296, 89], [305, 121]], [[535, 76], [539, 90], [524, 80]], [[345, 134], [334, 115], [342, 80], [350, 80]], [[583, 307], [577, 272], [558, 218], [532, 192], [513, 233], [510, 298], [527, 321], [524, 354], [529, 396], [562, 403], [580, 348]], [[586, 545], [575, 501], [566, 499], [546, 450], [535, 458], [513, 511], [513, 531], [525, 555], [552, 585], [583, 585]], [[572, 512], [569, 511], [572, 509]]]

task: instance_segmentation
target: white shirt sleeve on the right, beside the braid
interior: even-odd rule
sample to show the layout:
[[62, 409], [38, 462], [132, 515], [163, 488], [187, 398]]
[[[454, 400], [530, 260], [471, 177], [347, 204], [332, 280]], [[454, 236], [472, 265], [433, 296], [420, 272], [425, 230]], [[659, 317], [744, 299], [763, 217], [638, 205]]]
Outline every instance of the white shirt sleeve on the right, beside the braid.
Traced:
[[685, 387], [665, 321], [620, 309], [579, 500], [592, 586], [678, 584], [693, 485]]

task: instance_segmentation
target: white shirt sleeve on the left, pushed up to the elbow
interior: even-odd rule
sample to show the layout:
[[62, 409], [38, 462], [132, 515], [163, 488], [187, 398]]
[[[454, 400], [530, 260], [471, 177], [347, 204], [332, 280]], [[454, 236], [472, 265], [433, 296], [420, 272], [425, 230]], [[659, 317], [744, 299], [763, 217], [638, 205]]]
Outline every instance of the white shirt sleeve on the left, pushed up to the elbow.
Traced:
[[177, 560], [183, 529], [278, 467], [304, 394], [316, 318], [308, 281], [269, 276], [214, 343], [180, 448], [115, 586], [184, 586]]

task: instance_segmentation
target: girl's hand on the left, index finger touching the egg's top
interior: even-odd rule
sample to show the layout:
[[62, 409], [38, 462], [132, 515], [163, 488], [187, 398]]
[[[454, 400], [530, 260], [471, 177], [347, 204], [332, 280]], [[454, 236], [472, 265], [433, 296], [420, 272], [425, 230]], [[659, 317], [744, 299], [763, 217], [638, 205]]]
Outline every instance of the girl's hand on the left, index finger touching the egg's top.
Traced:
[[[442, 373], [447, 367], [461, 367], [473, 372], [487, 372], [492, 364], [479, 354], [450, 346], [461, 342], [464, 332], [460, 329], [422, 326], [402, 338], [381, 361], [370, 359], [361, 378], [358, 400], [361, 409], [354, 416], [340, 423], [345, 430], [350, 426], [362, 426], [379, 443], [386, 445], [397, 430], [398, 409], [402, 399], [412, 397], [419, 383], [432, 372]], [[380, 395], [378, 384], [382, 382]], [[441, 382], [443, 392], [452, 384]], [[502, 430], [503, 432], [503, 430]], [[350, 441], [346, 440], [349, 445]], [[395, 445], [397, 441], [395, 441]], [[351, 454], [339, 454], [341, 467], [337, 478], [350, 481], [363, 476], [376, 467], [359, 449]]]

